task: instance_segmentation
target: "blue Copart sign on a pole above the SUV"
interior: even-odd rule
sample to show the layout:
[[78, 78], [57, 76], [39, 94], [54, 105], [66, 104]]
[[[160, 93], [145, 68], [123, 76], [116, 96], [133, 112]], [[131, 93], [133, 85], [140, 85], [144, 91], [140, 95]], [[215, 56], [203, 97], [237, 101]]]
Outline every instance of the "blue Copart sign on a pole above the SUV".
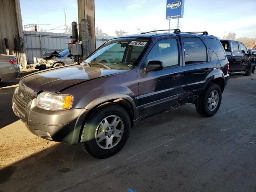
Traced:
[[183, 18], [184, 0], [167, 0], [166, 19]]

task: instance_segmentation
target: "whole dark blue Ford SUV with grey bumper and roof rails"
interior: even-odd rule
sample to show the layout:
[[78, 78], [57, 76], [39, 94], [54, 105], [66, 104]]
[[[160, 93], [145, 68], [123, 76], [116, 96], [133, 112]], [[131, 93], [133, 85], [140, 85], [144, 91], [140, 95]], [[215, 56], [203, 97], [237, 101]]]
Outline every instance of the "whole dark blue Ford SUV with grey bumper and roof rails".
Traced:
[[121, 150], [142, 118], [187, 102], [213, 116], [228, 67], [220, 41], [207, 32], [123, 36], [80, 64], [25, 76], [12, 108], [33, 134], [80, 143], [90, 155], [107, 158]]

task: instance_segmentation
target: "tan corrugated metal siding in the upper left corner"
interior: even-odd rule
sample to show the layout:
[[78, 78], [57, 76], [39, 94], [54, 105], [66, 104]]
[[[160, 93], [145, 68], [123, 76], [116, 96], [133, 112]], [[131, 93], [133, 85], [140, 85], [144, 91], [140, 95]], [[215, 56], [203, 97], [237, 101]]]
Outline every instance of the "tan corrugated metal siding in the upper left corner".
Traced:
[[14, 38], [18, 34], [15, 0], [0, 0], [0, 51], [6, 54], [4, 38], [8, 38], [9, 54], [14, 50]]

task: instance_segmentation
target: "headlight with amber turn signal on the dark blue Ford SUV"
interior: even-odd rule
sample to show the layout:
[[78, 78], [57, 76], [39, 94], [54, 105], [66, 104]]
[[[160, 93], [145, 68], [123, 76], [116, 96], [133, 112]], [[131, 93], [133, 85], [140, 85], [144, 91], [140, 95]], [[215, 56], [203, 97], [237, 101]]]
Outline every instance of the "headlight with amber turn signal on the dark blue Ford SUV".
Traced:
[[66, 110], [72, 107], [73, 96], [42, 92], [36, 98], [36, 106], [45, 110]]

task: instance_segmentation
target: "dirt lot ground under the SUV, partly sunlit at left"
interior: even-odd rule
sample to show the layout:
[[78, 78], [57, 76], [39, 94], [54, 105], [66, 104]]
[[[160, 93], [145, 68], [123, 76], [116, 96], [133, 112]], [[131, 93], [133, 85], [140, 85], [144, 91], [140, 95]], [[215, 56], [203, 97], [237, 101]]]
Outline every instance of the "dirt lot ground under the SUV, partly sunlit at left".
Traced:
[[147, 118], [116, 156], [31, 134], [0, 82], [0, 191], [256, 191], [256, 75], [232, 75], [212, 118], [192, 104]]

